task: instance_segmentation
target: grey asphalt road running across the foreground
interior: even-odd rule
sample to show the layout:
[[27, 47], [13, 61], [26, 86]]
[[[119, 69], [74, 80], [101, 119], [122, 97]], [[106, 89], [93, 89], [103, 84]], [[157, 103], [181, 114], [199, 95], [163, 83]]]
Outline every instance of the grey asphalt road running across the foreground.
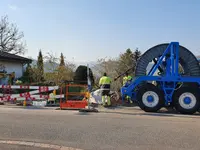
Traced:
[[0, 139], [85, 150], [200, 149], [199, 115], [129, 109], [79, 113], [0, 107]]

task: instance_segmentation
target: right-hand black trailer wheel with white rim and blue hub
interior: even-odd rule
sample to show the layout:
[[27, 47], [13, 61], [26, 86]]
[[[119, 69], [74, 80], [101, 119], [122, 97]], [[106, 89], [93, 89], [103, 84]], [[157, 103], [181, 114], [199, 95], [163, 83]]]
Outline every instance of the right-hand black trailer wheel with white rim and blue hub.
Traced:
[[173, 95], [173, 104], [181, 114], [194, 114], [200, 107], [200, 95], [192, 87], [182, 87]]

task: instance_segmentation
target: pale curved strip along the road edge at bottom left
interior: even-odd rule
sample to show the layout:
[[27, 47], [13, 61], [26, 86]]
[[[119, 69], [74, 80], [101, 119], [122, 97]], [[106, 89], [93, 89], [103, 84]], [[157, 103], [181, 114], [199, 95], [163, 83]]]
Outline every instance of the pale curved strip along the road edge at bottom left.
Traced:
[[34, 146], [40, 148], [51, 148], [54, 150], [83, 150], [66, 146], [45, 144], [45, 143], [36, 143], [36, 142], [26, 142], [26, 141], [10, 141], [10, 140], [0, 140], [0, 144], [13, 144], [13, 145], [24, 145], [24, 146]]

